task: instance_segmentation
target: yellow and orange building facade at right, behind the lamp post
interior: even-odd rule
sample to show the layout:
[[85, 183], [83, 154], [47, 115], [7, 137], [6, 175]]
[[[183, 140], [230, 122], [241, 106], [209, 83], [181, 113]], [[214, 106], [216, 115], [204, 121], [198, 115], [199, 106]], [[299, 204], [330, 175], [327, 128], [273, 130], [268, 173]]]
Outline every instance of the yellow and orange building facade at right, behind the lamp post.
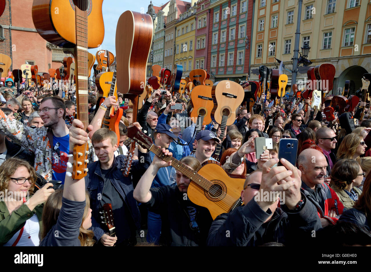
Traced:
[[[298, 67], [296, 83], [306, 80], [306, 71], [322, 63], [336, 68], [334, 94], [345, 80], [362, 86], [361, 76], [371, 72], [371, 3], [360, 0], [303, 0], [300, 20], [299, 51], [306, 43], [311, 49], [308, 67]], [[253, 26], [251, 78], [257, 79], [259, 66], [276, 68], [275, 58], [292, 68], [298, 20], [298, 1], [256, 1]], [[276, 62], [277, 64], [277, 62]], [[277, 64], [278, 65], [278, 64]], [[289, 85], [291, 73], [288, 74]]]

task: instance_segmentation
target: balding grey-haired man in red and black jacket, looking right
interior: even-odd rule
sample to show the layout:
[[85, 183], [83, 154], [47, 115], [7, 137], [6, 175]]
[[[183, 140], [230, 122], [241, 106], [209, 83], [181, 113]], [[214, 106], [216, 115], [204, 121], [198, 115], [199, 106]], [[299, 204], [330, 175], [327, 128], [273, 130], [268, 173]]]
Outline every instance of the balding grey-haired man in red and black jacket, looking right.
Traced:
[[324, 178], [328, 176], [327, 161], [322, 152], [308, 148], [298, 157], [298, 166], [301, 171], [301, 192], [315, 205], [322, 227], [336, 224], [344, 206]]

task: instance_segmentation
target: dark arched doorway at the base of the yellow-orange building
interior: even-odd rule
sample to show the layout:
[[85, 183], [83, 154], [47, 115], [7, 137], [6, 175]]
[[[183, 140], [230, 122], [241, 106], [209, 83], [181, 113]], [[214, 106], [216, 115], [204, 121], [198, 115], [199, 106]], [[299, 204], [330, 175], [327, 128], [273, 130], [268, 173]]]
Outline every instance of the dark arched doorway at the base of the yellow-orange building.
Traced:
[[355, 83], [355, 91], [362, 87], [362, 75], [368, 73], [368, 71], [358, 65], [353, 65], [345, 69], [339, 77], [334, 80], [334, 88], [332, 89], [332, 94], [338, 94], [338, 87], [344, 89], [345, 80], [353, 80]]

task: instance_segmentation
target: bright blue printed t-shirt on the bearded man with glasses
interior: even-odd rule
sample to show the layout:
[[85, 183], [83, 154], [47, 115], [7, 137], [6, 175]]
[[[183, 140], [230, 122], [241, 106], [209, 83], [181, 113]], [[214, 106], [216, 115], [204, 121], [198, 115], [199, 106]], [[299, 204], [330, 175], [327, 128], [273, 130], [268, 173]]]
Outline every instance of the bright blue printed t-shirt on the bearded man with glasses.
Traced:
[[69, 152], [69, 134], [63, 137], [53, 136], [52, 170], [53, 180], [60, 180], [65, 183], [66, 169]]

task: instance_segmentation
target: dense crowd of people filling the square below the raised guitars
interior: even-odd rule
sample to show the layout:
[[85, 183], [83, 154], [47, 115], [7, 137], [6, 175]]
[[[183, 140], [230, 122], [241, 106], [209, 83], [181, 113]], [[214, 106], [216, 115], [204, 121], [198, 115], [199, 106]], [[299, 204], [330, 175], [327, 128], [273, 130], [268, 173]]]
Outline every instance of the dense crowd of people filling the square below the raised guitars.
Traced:
[[[214, 122], [196, 127], [190, 121], [192, 104], [186, 95], [154, 90], [133, 120], [128, 99], [119, 94], [96, 104], [99, 92], [92, 87], [86, 128], [75, 118], [73, 91], [41, 87], [17, 92], [12, 79], [4, 83], [0, 245], [295, 246], [324, 244], [323, 237], [332, 245], [371, 245], [369, 107], [349, 132], [337, 119], [326, 122], [321, 111], [313, 120], [313, 109], [303, 110], [305, 101], [292, 111], [289, 100], [282, 107], [267, 100], [262, 114], [255, 107], [251, 112], [248, 106], [237, 108], [234, 123], [221, 131]], [[182, 109], [171, 109], [175, 104]], [[111, 106], [124, 110], [119, 139], [101, 128]], [[137, 143], [126, 176], [129, 126], [149, 136], [162, 155]], [[272, 147], [259, 156], [257, 137], [272, 139]], [[282, 139], [298, 139], [296, 165], [279, 158]], [[86, 143], [87, 175], [73, 179], [73, 147]], [[218, 144], [220, 156], [213, 156]], [[166, 156], [191, 171], [175, 169]], [[189, 173], [210, 161], [241, 188], [241, 205], [216, 218], [187, 197]], [[263, 192], [273, 197], [256, 197]], [[114, 231], [102, 222], [108, 203]]]

